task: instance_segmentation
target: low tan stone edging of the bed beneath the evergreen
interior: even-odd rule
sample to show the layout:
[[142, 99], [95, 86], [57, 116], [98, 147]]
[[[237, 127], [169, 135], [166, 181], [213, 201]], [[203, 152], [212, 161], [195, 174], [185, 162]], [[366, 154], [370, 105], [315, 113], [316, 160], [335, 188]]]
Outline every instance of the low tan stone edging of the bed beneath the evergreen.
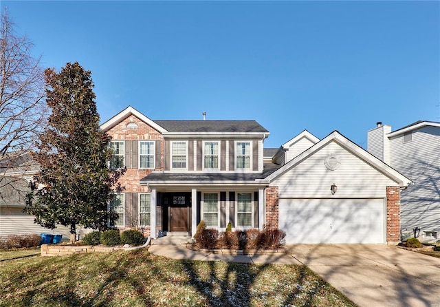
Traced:
[[120, 251], [123, 249], [122, 246], [41, 244], [41, 255], [50, 257], [89, 253], [109, 253], [111, 251]]

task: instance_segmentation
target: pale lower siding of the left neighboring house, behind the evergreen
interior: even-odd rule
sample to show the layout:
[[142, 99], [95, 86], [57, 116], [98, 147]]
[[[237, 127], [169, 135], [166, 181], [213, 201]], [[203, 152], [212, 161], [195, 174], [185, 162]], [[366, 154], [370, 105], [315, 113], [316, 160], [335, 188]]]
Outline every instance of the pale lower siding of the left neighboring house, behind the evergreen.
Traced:
[[69, 239], [69, 229], [58, 226], [56, 229], [46, 229], [34, 223], [34, 216], [23, 213], [23, 207], [0, 208], [0, 236], [8, 235], [31, 235], [40, 233], [52, 233], [63, 235]]

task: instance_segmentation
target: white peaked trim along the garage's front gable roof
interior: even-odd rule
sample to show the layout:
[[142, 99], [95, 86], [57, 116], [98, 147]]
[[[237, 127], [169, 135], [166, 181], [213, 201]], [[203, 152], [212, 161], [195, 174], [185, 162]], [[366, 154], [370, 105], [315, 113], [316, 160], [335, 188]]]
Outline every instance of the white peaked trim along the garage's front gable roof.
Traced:
[[408, 184], [412, 183], [412, 181], [406, 178], [406, 176], [402, 175], [382, 160], [376, 158], [362, 147], [356, 145], [354, 142], [340, 134], [338, 131], [333, 131], [331, 134], [317, 142], [315, 145], [304, 151], [302, 154], [287, 162], [285, 165], [283, 165], [283, 167], [274, 171], [274, 173], [270, 174], [270, 176], [267, 176], [266, 180], [272, 181], [278, 178], [283, 173], [289, 171], [289, 169], [292, 169], [292, 167], [298, 165], [300, 162], [302, 162], [312, 154], [316, 153], [316, 151], [318, 151], [322, 147], [325, 147], [327, 144], [333, 141], [342, 145], [342, 147], [351, 151], [352, 154], [369, 163], [369, 165], [372, 165], [373, 167], [384, 173], [384, 175], [392, 178], [393, 180], [395, 180], [395, 182], [398, 182], [401, 187], [407, 187]]

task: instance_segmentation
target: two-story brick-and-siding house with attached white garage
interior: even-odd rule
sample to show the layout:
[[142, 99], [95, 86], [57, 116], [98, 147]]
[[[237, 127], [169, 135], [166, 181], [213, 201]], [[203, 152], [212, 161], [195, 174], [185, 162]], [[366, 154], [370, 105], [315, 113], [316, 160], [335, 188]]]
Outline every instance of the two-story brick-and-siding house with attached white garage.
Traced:
[[111, 167], [127, 168], [109, 204], [119, 229], [194, 235], [204, 220], [220, 231], [279, 228], [287, 243], [399, 241], [410, 180], [338, 131], [264, 149], [269, 131], [254, 120], [151, 120], [132, 107], [101, 128]]

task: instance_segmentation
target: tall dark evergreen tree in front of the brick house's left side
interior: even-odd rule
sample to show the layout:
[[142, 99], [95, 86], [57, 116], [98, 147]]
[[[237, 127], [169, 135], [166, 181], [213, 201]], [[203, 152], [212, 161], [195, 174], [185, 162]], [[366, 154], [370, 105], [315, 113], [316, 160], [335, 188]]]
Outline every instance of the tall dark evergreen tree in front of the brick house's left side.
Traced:
[[111, 137], [99, 127], [91, 72], [67, 63], [58, 74], [45, 70], [49, 123], [34, 158], [41, 170], [34, 178], [25, 212], [34, 222], [54, 229], [56, 224], [76, 233], [78, 225], [107, 229], [116, 218], [107, 204], [124, 169], [109, 169]]

